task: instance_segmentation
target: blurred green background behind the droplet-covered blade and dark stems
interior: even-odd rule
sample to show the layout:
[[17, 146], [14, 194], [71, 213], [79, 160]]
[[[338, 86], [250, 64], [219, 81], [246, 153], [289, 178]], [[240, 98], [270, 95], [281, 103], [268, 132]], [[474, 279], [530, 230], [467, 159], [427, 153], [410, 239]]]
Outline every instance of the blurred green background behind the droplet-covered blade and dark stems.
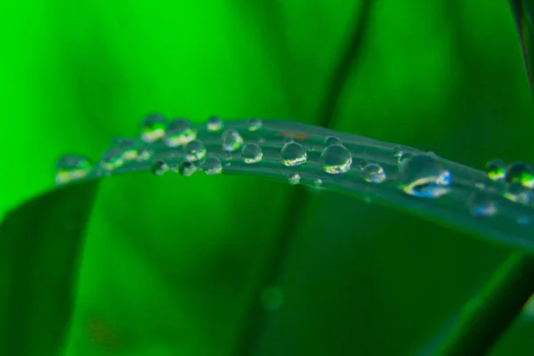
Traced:
[[[53, 187], [61, 154], [98, 158], [149, 112], [319, 122], [360, 5], [4, 4], [0, 213]], [[532, 160], [534, 107], [504, 0], [376, 1], [357, 64], [334, 129], [478, 168]], [[204, 174], [102, 182], [65, 355], [235, 354], [285, 214], [300, 221], [287, 237], [284, 303], [250, 355], [415, 354], [508, 254], [328, 192], [288, 212], [293, 190]], [[93, 342], [90, 320], [117, 347]], [[534, 321], [517, 323], [492, 356], [531, 355], [532, 335]]]

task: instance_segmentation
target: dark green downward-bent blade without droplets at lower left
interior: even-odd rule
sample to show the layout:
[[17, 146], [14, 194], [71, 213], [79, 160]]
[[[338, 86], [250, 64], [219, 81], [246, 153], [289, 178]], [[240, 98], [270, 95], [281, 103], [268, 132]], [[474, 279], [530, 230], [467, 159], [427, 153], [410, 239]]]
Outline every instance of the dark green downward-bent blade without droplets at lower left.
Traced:
[[58, 355], [98, 181], [33, 198], [0, 225], [0, 354]]

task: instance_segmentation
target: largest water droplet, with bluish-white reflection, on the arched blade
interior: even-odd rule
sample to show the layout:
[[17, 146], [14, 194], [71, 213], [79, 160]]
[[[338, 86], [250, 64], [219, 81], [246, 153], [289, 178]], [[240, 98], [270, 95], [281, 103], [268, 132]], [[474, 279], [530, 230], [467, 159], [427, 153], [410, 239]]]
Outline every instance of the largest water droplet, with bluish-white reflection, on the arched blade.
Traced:
[[450, 171], [427, 155], [402, 159], [400, 174], [402, 190], [419, 198], [439, 198], [449, 192], [452, 183]]

